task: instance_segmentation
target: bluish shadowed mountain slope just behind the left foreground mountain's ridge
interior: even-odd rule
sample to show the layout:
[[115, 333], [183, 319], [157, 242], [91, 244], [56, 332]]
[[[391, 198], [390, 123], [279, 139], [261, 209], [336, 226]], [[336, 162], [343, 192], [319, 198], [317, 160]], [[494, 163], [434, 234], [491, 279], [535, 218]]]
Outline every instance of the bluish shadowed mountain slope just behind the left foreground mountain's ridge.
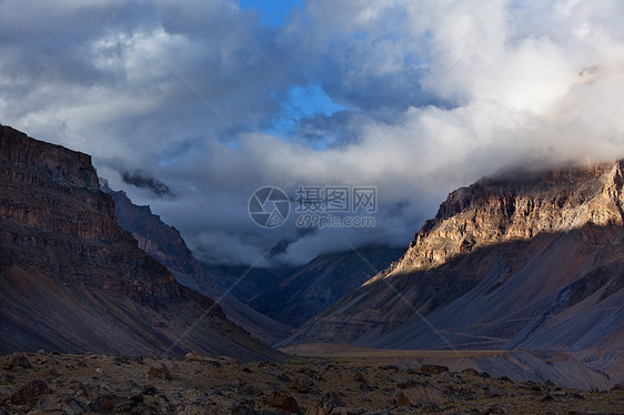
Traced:
[[114, 201], [120, 226], [131, 232], [139, 242], [139, 247], [167, 266], [180, 284], [218, 300], [228, 318], [266, 344], [278, 342], [291, 330], [260, 314], [232, 295], [224, 294], [212, 282], [211, 275], [204, 274], [180, 232], [163, 223], [149, 206], [138, 206], [124, 192], [114, 192], [107, 185], [103, 186], [103, 191]]

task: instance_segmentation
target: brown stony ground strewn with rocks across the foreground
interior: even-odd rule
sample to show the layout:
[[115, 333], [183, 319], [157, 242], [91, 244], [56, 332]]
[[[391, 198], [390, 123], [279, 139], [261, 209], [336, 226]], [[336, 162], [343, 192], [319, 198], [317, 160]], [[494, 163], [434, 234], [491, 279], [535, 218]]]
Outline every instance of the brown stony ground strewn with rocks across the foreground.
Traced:
[[444, 366], [54, 353], [0, 357], [0, 414], [624, 414], [624, 391], [513, 383]]

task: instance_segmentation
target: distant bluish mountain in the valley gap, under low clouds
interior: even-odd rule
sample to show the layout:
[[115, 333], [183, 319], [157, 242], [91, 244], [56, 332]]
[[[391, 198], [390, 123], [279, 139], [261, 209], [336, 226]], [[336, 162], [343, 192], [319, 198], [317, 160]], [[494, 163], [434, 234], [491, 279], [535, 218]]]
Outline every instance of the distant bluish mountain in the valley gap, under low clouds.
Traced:
[[319, 255], [251, 297], [249, 305], [298, 327], [388, 267], [402, 253], [400, 249], [369, 246]]

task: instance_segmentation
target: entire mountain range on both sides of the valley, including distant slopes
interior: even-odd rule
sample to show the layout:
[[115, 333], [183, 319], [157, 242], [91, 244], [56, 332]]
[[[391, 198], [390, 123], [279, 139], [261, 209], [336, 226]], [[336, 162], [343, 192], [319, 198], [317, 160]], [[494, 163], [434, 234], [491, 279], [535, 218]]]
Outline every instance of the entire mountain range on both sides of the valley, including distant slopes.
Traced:
[[511, 351], [481, 364], [624, 382], [623, 190], [624, 161], [513, 170], [452, 192], [406, 250], [248, 270], [198, 262], [88, 154], [0, 125], [0, 353]]

